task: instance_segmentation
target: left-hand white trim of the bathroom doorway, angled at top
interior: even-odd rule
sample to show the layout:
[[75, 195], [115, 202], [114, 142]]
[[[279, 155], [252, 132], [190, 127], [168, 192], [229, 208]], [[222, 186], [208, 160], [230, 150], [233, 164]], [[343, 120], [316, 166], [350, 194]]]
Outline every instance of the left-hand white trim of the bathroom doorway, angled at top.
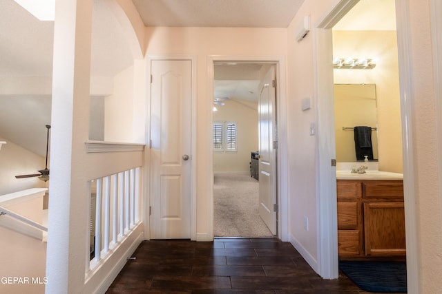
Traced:
[[332, 28], [359, 0], [342, 0], [318, 21], [315, 28], [315, 96], [318, 99], [318, 158], [316, 164], [316, 221], [318, 223], [318, 274], [326, 279], [338, 277], [338, 209], [336, 198], [336, 158], [334, 136], [334, 90]]

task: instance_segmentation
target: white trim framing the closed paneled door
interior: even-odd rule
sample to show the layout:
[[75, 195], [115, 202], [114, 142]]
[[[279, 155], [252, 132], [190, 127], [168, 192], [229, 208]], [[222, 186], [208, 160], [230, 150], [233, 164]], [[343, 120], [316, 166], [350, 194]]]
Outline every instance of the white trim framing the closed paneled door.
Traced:
[[[147, 55], [146, 56], [146, 78], [147, 83], [147, 103], [146, 103], [146, 145], [150, 147], [151, 133], [150, 125], [151, 121], [151, 61], [161, 61], [161, 60], [188, 60], [191, 61], [191, 240], [196, 240], [196, 167], [197, 167], [197, 156], [196, 156], [196, 68], [197, 68], [197, 56], [195, 55]], [[150, 195], [150, 173], [151, 173], [151, 162], [149, 158], [149, 150], [146, 148], [144, 163], [145, 167], [144, 173], [146, 176], [144, 178], [147, 183], [144, 190], [144, 238], [148, 240], [150, 237], [150, 222], [149, 222], [149, 209], [151, 204]]]

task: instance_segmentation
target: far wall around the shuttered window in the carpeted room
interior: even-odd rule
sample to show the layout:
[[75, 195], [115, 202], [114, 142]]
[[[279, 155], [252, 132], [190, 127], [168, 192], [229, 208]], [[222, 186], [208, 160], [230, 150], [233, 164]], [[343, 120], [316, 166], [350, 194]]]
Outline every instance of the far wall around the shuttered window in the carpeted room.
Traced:
[[213, 152], [214, 173], [249, 173], [251, 151], [258, 151], [258, 103], [224, 101], [213, 112], [213, 122], [237, 125], [237, 152]]

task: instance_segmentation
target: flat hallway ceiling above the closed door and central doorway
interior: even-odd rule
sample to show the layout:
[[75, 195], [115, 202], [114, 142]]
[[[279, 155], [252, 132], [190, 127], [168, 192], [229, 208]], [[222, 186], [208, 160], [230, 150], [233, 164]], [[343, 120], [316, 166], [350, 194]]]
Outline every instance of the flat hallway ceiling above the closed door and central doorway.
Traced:
[[287, 28], [304, 0], [132, 0], [146, 26]]

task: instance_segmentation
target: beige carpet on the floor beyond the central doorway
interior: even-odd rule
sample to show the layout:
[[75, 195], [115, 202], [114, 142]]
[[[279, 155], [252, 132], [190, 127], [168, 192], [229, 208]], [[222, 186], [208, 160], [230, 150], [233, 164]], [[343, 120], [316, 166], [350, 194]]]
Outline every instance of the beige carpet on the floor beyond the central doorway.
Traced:
[[215, 237], [272, 237], [258, 214], [258, 180], [249, 174], [216, 174]]

